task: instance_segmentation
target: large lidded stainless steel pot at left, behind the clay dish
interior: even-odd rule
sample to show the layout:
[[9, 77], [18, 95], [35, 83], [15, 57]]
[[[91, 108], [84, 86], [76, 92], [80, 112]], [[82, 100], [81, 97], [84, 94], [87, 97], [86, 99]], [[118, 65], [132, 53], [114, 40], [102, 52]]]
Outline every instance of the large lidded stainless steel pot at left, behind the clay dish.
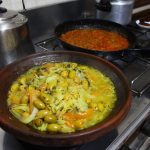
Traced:
[[0, 68], [34, 53], [27, 22], [24, 15], [0, 7]]

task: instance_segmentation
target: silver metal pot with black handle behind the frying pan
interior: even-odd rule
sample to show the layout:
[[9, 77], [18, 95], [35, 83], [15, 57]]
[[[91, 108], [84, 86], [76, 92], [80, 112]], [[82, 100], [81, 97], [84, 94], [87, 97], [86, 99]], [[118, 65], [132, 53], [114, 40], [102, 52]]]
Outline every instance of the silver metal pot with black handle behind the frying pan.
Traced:
[[127, 25], [131, 21], [134, 0], [96, 0], [96, 17]]

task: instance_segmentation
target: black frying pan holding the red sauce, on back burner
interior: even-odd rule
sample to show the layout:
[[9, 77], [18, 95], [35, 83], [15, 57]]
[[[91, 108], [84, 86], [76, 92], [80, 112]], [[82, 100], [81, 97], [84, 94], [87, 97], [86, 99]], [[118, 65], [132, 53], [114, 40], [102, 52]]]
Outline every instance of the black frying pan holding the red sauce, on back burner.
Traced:
[[[90, 49], [85, 49], [85, 48], [80, 48], [77, 46], [73, 46], [67, 42], [64, 42], [63, 40], [60, 39], [61, 35], [74, 30], [74, 29], [87, 29], [87, 28], [96, 28], [96, 29], [104, 29], [107, 31], [112, 31], [119, 33], [122, 35], [124, 38], [126, 38], [129, 42], [129, 47], [127, 49], [120, 49], [118, 51], [105, 51], [105, 50], [90, 50]], [[88, 52], [88, 53], [94, 53], [94, 54], [99, 54], [99, 53], [119, 53], [122, 51], [130, 51], [130, 50], [140, 50], [140, 49], [135, 49], [135, 42], [136, 42], [136, 37], [135, 35], [129, 31], [125, 26], [122, 26], [118, 23], [111, 22], [111, 21], [106, 21], [106, 20], [99, 20], [99, 19], [79, 19], [79, 20], [71, 20], [71, 21], [66, 21], [61, 24], [58, 24], [55, 28], [55, 35], [58, 38], [58, 40], [61, 42], [64, 48], [69, 49], [69, 50], [75, 50], [75, 51], [81, 51], [81, 52]]]

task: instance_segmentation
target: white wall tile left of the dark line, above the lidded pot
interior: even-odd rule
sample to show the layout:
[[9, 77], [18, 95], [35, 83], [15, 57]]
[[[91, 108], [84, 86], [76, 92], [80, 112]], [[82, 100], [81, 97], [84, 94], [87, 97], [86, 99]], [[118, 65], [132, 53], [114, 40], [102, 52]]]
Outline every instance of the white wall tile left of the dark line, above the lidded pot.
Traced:
[[3, 0], [1, 6], [7, 8], [8, 10], [23, 10], [22, 0]]

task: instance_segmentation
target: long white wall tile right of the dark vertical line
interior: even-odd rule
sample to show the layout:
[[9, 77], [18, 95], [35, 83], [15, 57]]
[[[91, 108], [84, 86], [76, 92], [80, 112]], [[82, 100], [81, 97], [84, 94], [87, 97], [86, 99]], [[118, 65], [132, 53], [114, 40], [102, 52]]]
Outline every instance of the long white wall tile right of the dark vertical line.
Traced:
[[75, 0], [24, 0], [26, 9], [34, 9], [47, 5], [53, 5], [62, 2], [69, 2]]

